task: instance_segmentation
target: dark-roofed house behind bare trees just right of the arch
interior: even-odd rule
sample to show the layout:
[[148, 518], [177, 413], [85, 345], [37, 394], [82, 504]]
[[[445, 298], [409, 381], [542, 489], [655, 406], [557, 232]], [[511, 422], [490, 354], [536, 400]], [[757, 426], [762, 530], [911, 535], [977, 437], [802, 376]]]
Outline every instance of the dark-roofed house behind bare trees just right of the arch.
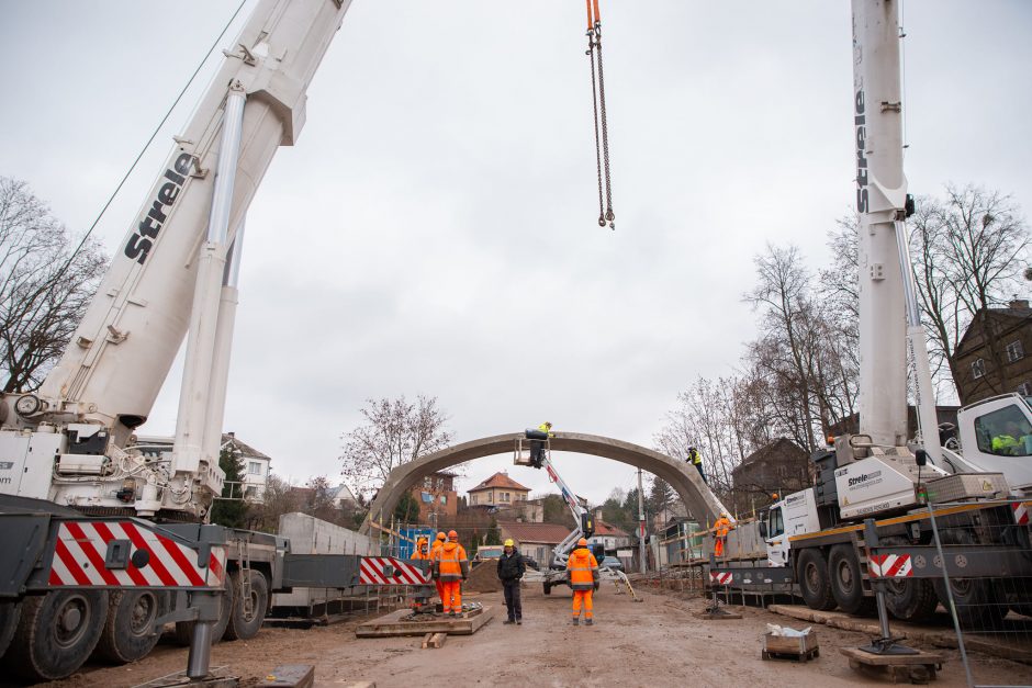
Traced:
[[731, 472], [734, 483], [733, 505], [745, 514], [774, 501], [773, 495], [786, 495], [814, 484], [816, 466], [805, 449], [779, 438], [752, 452]]

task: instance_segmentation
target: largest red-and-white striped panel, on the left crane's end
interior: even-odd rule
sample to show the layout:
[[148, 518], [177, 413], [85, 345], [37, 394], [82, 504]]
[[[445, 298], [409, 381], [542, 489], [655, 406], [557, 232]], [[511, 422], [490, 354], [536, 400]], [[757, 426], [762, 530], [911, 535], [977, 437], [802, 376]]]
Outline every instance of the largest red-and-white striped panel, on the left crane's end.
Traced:
[[[146, 566], [132, 562], [122, 569], [104, 567], [108, 543], [128, 540], [132, 552], [150, 554]], [[57, 532], [49, 584], [91, 587], [222, 587], [226, 577], [226, 548], [213, 546], [207, 566], [198, 553], [132, 521], [66, 521]]]

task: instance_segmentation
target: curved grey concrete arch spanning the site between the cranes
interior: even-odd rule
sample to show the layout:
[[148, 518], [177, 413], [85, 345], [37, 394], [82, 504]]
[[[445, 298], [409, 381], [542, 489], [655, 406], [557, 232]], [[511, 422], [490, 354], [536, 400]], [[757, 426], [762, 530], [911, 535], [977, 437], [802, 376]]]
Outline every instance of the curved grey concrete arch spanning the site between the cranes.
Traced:
[[[511, 453], [514, 451], [516, 440], [523, 436], [523, 432], [495, 435], [463, 442], [394, 469], [370, 505], [369, 517], [362, 523], [362, 532], [369, 534], [371, 530], [369, 519], [374, 519], [380, 514], [391, 514], [401, 496], [424, 476], [465, 461]], [[703, 483], [694, 466], [651, 449], [608, 437], [580, 432], [557, 432], [551, 440], [551, 449], [603, 456], [653, 473], [670, 483], [696, 518], [708, 518], [709, 521], [714, 521], [721, 511], [726, 510], [717, 496]], [[576, 485], [571, 485], [571, 487], [576, 489]]]

